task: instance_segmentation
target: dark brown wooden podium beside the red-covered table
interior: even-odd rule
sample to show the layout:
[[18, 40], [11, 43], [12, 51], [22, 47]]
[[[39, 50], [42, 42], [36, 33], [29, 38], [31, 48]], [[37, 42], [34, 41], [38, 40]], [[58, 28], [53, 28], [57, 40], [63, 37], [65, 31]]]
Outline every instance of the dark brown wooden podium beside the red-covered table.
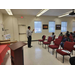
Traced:
[[25, 45], [26, 43], [24, 42], [17, 42], [9, 46], [12, 65], [24, 65], [23, 46]]

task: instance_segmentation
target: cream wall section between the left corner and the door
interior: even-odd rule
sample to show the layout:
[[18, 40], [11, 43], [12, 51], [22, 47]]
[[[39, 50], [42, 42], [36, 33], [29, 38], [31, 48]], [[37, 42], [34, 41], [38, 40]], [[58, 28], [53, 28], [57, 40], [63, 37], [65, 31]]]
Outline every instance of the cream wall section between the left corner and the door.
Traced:
[[8, 33], [11, 35], [11, 40], [18, 39], [18, 22], [14, 16], [3, 15], [4, 27], [8, 29]]

